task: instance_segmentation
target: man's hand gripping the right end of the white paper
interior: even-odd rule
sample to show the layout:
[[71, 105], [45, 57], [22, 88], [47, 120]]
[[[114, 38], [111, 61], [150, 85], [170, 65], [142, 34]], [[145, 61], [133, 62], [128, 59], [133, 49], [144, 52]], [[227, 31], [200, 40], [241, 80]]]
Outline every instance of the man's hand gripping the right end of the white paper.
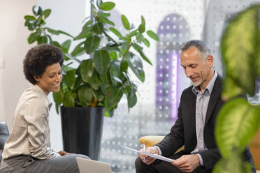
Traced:
[[171, 164], [178, 167], [182, 172], [192, 172], [200, 165], [198, 155], [189, 154], [183, 155], [180, 158], [173, 160]]

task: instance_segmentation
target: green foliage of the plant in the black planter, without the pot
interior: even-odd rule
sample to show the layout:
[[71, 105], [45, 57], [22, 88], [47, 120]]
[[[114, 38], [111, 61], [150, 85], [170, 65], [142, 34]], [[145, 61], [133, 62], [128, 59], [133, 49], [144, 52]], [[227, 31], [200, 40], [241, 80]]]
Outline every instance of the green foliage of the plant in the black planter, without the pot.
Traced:
[[[127, 34], [123, 35], [109, 18], [109, 11], [114, 7], [113, 2], [96, 1], [96, 5], [92, 3], [94, 17], [85, 19], [82, 31], [75, 37], [64, 31], [45, 27], [50, 9], [43, 10], [40, 6], [34, 6], [34, 15], [24, 16], [24, 25], [31, 31], [29, 44], [50, 43], [60, 47], [64, 53], [66, 63], [63, 66], [62, 86], [58, 93], [53, 93], [57, 112], [59, 105], [104, 106], [105, 115], [112, 116], [123, 94], [127, 96], [129, 108], [136, 105], [137, 85], [130, 79], [129, 69], [144, 82], [142, 61], [152, 65], [143, 52], [143, 45], [150, 47], [149, 40], [145, 38], [145, 18], [141, 16], [141, 23], [135, 28], [129, 24], [125, 15], [121, 15], [122, 24], [127, 30]], [[153, 31], [148, 30], [146, 33], [150, 38], [159, 40]], [[63, 43], [54, 40], [54, 36], [60, 34], [68, 37]], [[73, 41], [77, 41], [78, 45], [71, 50]], [[73, 68], [71, 63], [78, 63], [78, 67]]]

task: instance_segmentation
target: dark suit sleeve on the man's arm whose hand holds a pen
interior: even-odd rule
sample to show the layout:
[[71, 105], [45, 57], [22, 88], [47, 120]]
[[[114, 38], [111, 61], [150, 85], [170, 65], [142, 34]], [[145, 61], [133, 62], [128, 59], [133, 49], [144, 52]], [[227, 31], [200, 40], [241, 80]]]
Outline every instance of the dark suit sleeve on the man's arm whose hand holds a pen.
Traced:
[[171, 128], [171, 132], [164, 137], [164, 140], [156, 144], [161, 149], [161, 156], [172, 156], [182, 145], [184, 145], [184, 129], [182, 122], [182, 96], [180, 98], [180, 106], [178, 107], [178, 119]]

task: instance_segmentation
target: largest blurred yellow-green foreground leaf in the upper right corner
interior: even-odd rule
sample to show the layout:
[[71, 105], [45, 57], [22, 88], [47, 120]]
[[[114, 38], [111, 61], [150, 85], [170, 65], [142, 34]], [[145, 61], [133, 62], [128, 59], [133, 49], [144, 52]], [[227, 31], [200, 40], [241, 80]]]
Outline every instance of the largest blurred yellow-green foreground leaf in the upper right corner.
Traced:
[[231, 20], [222, 36], [222, 57], [226, 76], [251, 96], [254, 95], [256, 73], [254, 54], [259, 51], [257, 43], [259, 6], [252, 6]]

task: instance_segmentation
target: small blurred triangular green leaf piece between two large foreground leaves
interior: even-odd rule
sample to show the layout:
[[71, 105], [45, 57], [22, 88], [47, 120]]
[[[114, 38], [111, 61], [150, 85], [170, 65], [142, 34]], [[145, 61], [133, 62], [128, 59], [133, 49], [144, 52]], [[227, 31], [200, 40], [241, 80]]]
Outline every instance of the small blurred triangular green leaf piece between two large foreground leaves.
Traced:
[[235, 96], [244, 93], [243, 89], [238, 87], [238, 85], [233, 81], [233, 79], [226, 75], [223, 82], [222, 99], [229, 100]]

